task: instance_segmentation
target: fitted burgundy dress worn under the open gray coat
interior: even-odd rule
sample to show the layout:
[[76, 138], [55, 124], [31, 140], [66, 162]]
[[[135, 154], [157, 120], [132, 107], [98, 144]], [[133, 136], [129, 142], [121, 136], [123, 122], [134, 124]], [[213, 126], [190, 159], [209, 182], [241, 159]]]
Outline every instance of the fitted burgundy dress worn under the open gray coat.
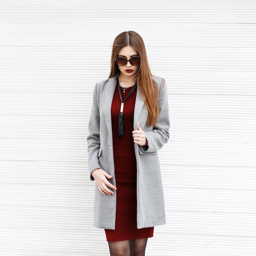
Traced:
[[[123, 100], [131, 88], [122, 90]], [[108, 242], [149, 238], [153, 236], [154, 227], [137, 229], [136, 180], [137, 167], [134, 152], [133, 114], [136, 99], [135, 90], [124, 103], [124, 136], [118, 137], [118, 116], [121, 107], [118, 87], [116, 86], [111, 106], [113, 150], [117, 191], [117, 212], [115, 230], [105, 229]]]

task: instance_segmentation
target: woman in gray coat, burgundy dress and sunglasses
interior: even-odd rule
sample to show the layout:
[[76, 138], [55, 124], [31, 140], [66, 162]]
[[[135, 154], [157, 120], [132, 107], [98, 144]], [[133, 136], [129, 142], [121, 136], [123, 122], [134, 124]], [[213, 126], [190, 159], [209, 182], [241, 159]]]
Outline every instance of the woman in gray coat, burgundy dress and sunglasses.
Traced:
[[150, 73], [142, 38], [114, 41], [109, 79], [94, 88], [88, 162], [95, 180], [94, 226], [111, 256], [143, 256], [154, 227], [165, 224], [157, 150], [169, 139], [164, 79]]

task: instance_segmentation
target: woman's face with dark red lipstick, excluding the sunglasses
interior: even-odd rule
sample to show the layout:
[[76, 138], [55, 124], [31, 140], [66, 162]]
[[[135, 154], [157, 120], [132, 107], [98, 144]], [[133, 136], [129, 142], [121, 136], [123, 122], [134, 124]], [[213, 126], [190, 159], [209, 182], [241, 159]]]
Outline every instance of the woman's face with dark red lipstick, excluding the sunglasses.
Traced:
[[[122, 57], [122, 58], [126, 58], [127, 60], [129, 60], [132, 57], [135, 56], [139, 56], [139, 54], [137, 53], [137, 51], [130, 45], [123, 47], [119, 54], [117, 55], [117, 57]], [[125, 66], [118, 66], [119, 70], [120, 70], [120, 76], [123, 76], [124, 78], [129, 78], [134, 76], [135, 74], [137, 74], [138, 70], [139, 70], [139, 65], [138, 66], [133, 66], [131, 65], [130, 61], [127, 61]]]

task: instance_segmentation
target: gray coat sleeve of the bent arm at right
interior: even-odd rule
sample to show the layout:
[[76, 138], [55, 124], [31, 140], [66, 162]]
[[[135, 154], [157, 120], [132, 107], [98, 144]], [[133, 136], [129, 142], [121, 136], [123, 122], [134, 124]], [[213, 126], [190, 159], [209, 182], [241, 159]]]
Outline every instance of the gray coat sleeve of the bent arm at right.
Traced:
[[139, 146], [140, 154], [153, 153], [164, 146], [169, 139], [169, 128], [170, 128], [170, 118], [169, 118], [169, 106], [168, 106], [168, 94], [167, 86], [162, 79], [162, 83], [159, 86], [159, 116], [158, 123], [151, 128], [151, 130], [146, 131], [146, 139], [148, 142], [148, 147]]

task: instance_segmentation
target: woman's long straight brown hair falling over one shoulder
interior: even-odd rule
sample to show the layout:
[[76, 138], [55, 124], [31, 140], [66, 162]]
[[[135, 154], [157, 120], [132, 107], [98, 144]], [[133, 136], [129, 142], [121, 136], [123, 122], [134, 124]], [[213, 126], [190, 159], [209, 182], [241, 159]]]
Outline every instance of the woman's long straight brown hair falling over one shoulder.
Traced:
[[135, 80], [140, 89], [141, 97], [148, 110], [148, 126], [153, 126], [157, 123], [159, 106], [158, 106], [158, 89], [156, 82], [152, 79], [152, 74], [148, 65], [148, 58], [144, 41], [139, 34], [134, 31], [126, 31], [119, 34], [113, 43], [111, 56], [110, 77], [114, 77], [119, 73], [119, 68], [115, 62], [115, 58], [120, 50], [125, 46], [132, 46], [139, 54], [140, 65]]

